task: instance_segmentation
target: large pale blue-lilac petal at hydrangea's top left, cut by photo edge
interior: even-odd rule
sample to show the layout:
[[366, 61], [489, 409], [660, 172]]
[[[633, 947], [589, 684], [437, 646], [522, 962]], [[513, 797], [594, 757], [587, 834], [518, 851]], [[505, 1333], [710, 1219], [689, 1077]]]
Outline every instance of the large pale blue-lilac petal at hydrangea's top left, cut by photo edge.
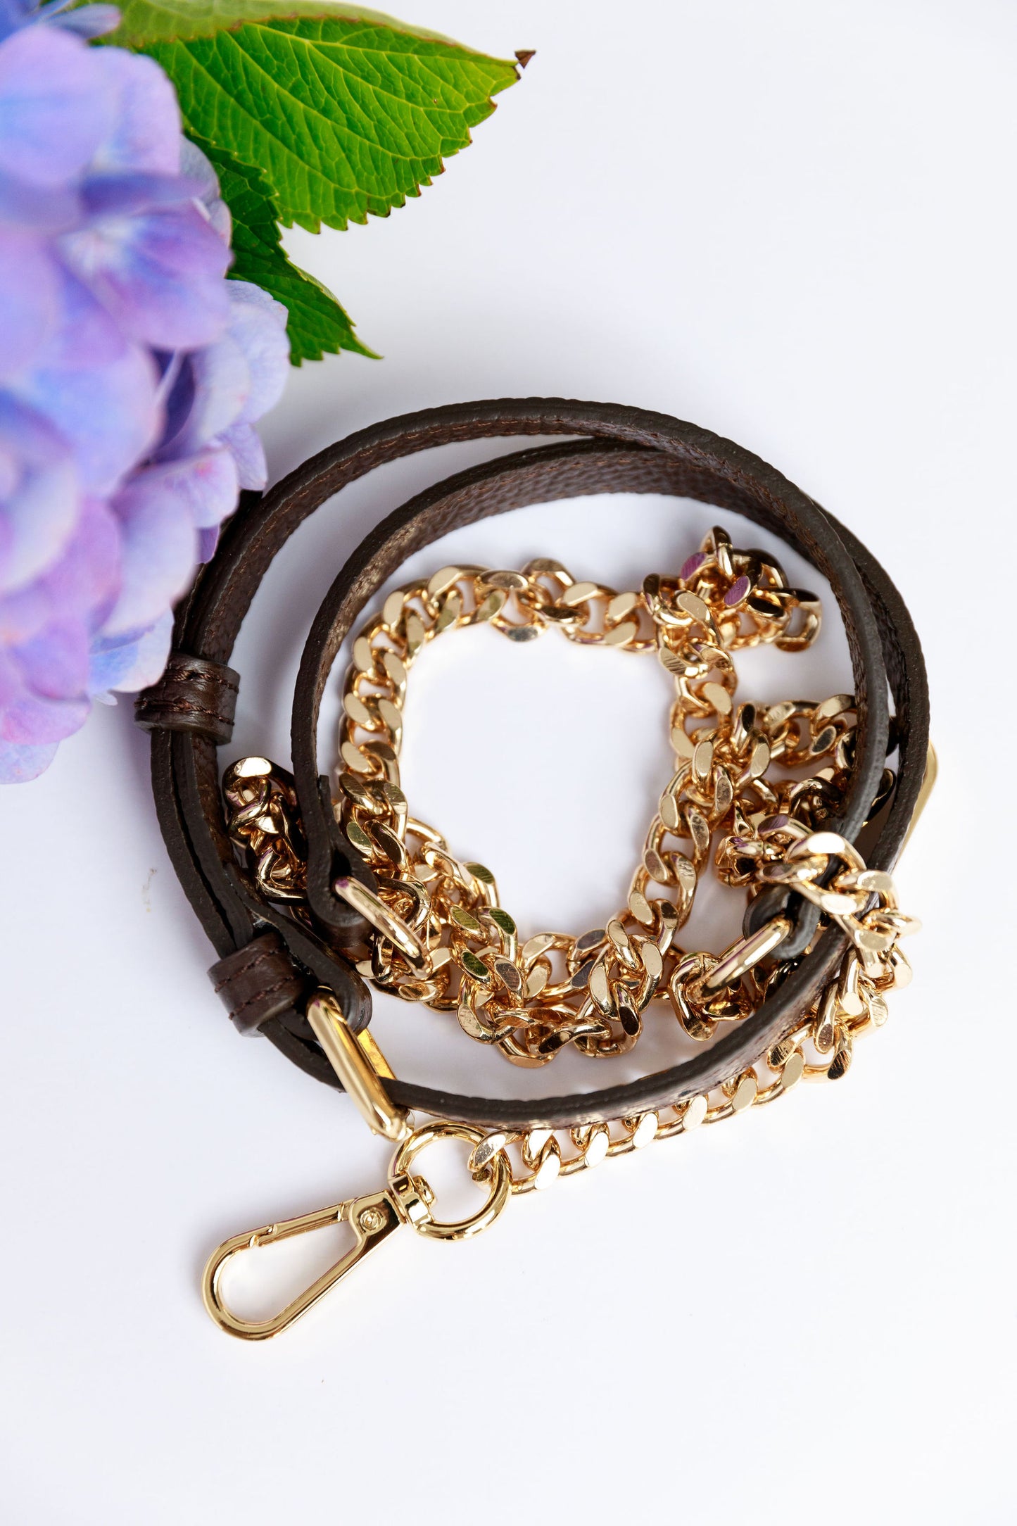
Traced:
[[0, 171], [63, 186], [110, 134], [116, 101], [93, 52], [67, 32], [26, 27], [0, 49]]

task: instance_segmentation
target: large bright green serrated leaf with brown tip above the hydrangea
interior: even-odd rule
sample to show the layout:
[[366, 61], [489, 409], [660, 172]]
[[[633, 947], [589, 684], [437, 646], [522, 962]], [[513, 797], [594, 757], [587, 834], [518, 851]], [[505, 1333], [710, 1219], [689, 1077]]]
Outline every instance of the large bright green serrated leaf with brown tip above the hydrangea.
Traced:
[[515, 63], [384, 17], [326, 12], [320, 0], [310, 9], [297, 0], [297, 20], [247, 21], [278, 17], [282, 0], [128, 0], [110, 40], [151, 53], [186, 130], [256, 166], [279, 220], [317, 232], [419, 195], [518, 75]]

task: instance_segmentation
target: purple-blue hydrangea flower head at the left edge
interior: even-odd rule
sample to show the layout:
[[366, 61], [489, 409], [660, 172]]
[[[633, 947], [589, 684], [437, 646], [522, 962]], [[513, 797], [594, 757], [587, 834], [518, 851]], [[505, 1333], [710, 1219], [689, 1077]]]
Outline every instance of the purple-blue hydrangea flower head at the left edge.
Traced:
[[253, 423], [288, 363], [285, 308], [226, 279], [172, 85], [82, 41], [101, 11], [0, 0], [3, 781], [159, 676], [172, 601], [265, 482]]

